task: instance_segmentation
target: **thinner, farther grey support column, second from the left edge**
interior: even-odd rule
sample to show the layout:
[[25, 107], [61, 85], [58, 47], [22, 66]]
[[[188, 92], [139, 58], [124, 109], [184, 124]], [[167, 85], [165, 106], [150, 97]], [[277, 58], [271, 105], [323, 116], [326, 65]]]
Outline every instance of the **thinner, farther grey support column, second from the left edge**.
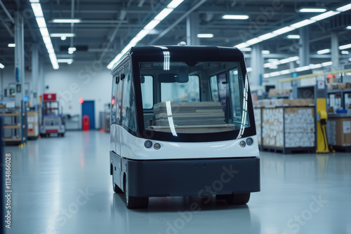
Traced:
[[31, 102], [33, 106], [38, 104], [38, 79], [39, 79], [39, 47], [37, 43], [32, 45], [32, 92]]

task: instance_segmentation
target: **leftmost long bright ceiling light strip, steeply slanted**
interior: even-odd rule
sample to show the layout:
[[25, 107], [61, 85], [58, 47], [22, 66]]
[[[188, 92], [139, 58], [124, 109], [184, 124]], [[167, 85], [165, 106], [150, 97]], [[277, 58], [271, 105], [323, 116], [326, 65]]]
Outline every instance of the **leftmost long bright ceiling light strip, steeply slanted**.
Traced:
[[37, 20], [37, 25], [39, 27], [41, 37], [43, 38], [51, 64], [53, 65], [53, 69], [58, 69], [58, 60], [55, 55], [55, 50], [53, 50], [53, 43], [51, 43], [51, 38], [48, 34], [48, 28], [46, 27], [46, 22], [43, 11], [41, 10], [40, 2], [39, 0], [29, 0], [29, 2], [31, 3], [30, 5], [32, 6], [32, 10], [35, 15], [35, 19]]

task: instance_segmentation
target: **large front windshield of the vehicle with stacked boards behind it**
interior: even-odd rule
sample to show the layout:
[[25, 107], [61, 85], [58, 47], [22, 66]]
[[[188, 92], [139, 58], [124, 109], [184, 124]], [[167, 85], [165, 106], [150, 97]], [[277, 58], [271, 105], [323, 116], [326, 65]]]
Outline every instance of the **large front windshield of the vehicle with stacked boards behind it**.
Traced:
[[179, 133], [248, 128], [248, 86], [239, 62], [140, 62], [145, 130]]

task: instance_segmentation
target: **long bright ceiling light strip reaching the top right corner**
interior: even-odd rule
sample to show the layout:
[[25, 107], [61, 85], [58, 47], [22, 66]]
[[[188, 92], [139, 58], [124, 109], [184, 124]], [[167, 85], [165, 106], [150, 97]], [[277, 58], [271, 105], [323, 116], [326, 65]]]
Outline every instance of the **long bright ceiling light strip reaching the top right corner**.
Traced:
[[[279, 35], [285, 34], [286, 32], [290, 32], [292, 30], [298, 29], [300, 27], [305, 27], [307, 25], [311, 25], [311, 24], [313, 24], [313, 23], [315, 23], [315, 22], [317, 22], [319, 20], [324, 20], [324, 19], [329, 18], [329, 17], [331, 17], [333, 15], [338, 15], [339, 13], [344, 12], [344, 11], [348, 11], [350, 9], [351, 9], [351, 4], [340, 6], [339, 8], [336, 8], [336, 11], [324, 12], [324, 13], [316, 15], [316, 16], [310, 18], [310, 19], [301, 20], [299, 22], [293, 23], [292, 25], [289, 25], [289, 26], [282, 27], [280, 29], [274, 30], [271, 33], [274, 34], [274, 36], [279, 36]], [[256, 43], [260, 43], [261, 41], [266, 41], [268, 39], [271, 39], [274, 36], [270, 35], [270, 33], [263, 34], [261, 36], [258, 36], [256, 38], [254, 38], [254, 39], [251, 39], [249, 41], [245, 41], [243, 43], [239, 43], [239, 44], [237, 44], [234, 47], [236, 47], [238, 49], [242, 49], [242, 48], [245, 48], [247, 46], [252, 46], [252, 45], [254, 45]]]

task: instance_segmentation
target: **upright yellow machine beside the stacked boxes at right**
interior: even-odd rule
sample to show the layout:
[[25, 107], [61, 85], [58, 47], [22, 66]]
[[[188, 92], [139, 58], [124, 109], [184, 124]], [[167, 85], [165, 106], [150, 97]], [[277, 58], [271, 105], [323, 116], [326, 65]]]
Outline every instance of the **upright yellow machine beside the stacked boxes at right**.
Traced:
[[326, 98], [316, 99], [317, 109], [317, 148], [316, 153], [329, 153], [328, 139], [326, 139]]

